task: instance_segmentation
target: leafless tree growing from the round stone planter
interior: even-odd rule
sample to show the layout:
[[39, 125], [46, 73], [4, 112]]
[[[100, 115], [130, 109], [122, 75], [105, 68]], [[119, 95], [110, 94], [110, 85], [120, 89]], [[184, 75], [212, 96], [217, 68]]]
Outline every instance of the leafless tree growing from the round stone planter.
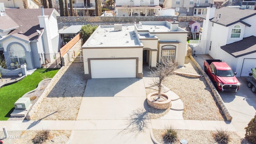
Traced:
[[173, 60], [162, 59], [161, 64], [156, 64], [156, 70], [150, 72], [150, 76], [153, 78], [153, 86], [158, 87], [158, 99], [161, 96], [162, 81], [173, 74], [173, 71], [177, 69], [178, 64]]

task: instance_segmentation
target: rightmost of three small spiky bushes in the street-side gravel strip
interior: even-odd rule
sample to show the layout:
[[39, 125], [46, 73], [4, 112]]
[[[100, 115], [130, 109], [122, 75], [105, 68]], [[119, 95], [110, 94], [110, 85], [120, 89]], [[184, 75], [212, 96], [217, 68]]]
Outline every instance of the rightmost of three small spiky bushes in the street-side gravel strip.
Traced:
[[230, 133], [223, 128], [216, 129], [216, 133], [214, 134], [214, 140], [219, 144], [227, 144], [230, 141]]

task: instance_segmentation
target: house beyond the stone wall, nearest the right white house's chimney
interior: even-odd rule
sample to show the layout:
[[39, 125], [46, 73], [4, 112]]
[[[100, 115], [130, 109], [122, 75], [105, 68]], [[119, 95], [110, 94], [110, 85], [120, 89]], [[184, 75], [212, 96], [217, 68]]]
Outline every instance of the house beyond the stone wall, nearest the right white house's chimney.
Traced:
[[202, 16], [213, 0], [165, 0], [163, 8], [174, 8], [181, 16]]

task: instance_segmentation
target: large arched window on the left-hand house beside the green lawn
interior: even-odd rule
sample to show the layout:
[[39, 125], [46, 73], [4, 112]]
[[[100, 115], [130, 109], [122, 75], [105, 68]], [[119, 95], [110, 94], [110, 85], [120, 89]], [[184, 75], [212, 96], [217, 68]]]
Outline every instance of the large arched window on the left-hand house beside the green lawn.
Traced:
[[20, 44], [12, 44], [9, 47], [9, 55], [11, 61], [15, 64], [18, 62], [19, 64], [24, 64], [26, 63], [26, 56], [25, 56], [25, 51], [20, 46]]

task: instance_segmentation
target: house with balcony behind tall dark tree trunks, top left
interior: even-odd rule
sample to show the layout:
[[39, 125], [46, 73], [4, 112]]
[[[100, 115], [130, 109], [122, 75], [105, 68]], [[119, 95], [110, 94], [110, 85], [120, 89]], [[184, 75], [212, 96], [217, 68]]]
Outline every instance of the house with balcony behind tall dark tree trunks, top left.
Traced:
[[[63, 0], [64, 8], [65, 2]], [[95, 0], [73, 0], [73, 10], [76, 10], [78, 16], [86, 16], [88, 11], [89, 16], [95, 16]], [[57, 9], [60, 10], [59, 0], [56, 0]], [[70, 10], [70, 4], [68, 0], [68, 9]]]

